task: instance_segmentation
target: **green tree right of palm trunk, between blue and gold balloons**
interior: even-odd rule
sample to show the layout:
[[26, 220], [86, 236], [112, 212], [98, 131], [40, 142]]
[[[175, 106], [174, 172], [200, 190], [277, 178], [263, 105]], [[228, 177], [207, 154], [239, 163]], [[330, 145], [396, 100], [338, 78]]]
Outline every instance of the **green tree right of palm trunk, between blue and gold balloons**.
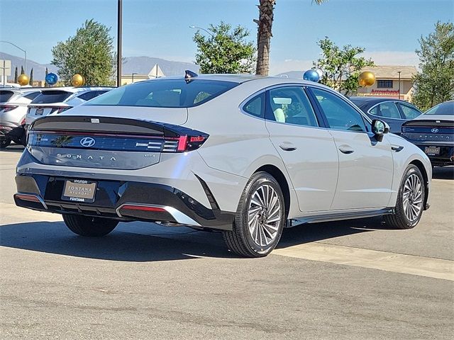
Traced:
[[321, 57], [312, 64], [316, 69], [321, 69], [323, 76], [321, 84], [348, 96], [358, 90], [360, 71], [362, 67], [375, 66], [372, 60], [358, 57], [365, 51], [363, 47], [345, 45], [340, 48], [333, 41], [325, 37], [317, 42], [321, 48]]

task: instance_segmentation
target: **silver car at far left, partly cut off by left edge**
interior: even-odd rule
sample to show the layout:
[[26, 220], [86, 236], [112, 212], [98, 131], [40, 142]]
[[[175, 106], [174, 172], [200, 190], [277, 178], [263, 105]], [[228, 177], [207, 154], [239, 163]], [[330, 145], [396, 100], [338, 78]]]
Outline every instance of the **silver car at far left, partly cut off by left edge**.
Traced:
[[27, 106], [41, 93], [41, 89], [32, 87], [0, 89], [0, 148], [11, 143], [9, 133], [25, 124]]

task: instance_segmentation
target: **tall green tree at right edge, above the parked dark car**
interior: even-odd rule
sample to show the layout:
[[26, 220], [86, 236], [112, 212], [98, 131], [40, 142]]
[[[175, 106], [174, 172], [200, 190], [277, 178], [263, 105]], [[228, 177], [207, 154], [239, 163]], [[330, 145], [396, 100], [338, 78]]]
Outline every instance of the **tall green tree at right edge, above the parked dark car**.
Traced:
[[454, 23], [435, 25], [435, 31], [419, 39], [419, 69], [414, 76], [412, 102], [426, 111], [454, 98]]

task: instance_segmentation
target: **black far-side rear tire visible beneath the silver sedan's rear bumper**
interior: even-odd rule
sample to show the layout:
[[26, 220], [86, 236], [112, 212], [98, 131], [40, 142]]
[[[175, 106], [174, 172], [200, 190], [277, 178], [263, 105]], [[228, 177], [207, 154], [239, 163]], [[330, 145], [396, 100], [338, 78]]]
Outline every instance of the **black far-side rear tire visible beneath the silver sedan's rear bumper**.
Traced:
[[84, 215], [63, 215], [65, 225], [74, 234], [85, 237], [101, 237], [109, 234], [118, 225], [118, 221], [103, 217]]

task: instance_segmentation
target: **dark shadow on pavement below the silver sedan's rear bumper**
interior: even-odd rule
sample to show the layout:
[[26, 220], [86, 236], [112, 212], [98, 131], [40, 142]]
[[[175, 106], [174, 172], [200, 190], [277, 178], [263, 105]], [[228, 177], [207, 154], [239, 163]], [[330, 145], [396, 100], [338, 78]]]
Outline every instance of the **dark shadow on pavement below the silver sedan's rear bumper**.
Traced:
[[3, 225], [0, 246], [111, 261], [236, 257], [226, 249], [220, 233], [139, 222], [121, 223], [106, 237], [79, 237], [63, 222]]

